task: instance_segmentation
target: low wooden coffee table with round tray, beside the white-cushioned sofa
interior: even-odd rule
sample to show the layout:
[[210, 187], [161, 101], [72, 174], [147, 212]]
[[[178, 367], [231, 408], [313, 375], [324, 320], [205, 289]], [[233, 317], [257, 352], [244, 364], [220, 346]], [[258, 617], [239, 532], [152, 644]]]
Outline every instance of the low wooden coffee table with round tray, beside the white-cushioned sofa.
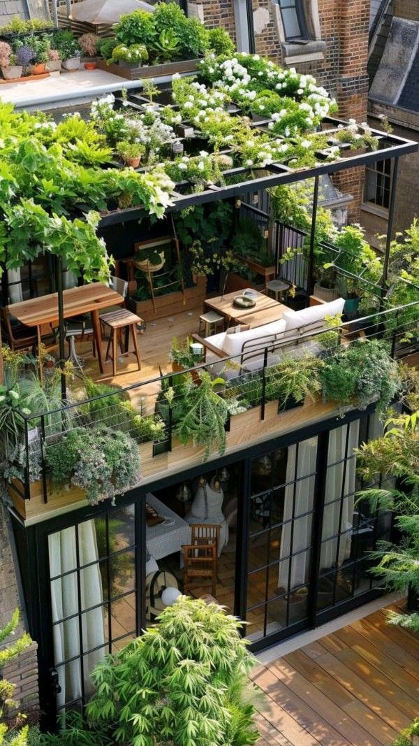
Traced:
[[249, 292], [255, 294], [254, 300], [256, 304], [253, 308], [236, 308], [233, 306], [233, 300], [237, 295], [242, 295], [242, 292], [228, 292], [227, 295], [218, 295], [217, 298], [208, 298], [204, 301], [205, 310], [213, 310], [217, 313], [221, 313], [226, 319], [227, 327], [232, 324], [244, 324], [251, 328], [262, 326], [275, 322], [281, 318], [283, 313], [288, 309], [282, 303], [278, 303], [274, 298], [269, 298], [268, 295], [263, 295], [262, 292], [248, 289]]

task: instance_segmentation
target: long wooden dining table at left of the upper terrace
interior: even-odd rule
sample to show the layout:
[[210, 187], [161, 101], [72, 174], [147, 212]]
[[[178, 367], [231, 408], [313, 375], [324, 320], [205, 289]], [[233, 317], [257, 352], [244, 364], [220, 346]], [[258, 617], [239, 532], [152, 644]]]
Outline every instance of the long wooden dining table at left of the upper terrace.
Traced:
[[[72, 287], [63, 291], [64, 319], [72, 316], [81, 316], [90, 313], [92, 316], [93, 335], [95, 337], [98, 351], [98, 363], [101, 373], [104, 372], [102, 357], [102, 335], [99, 311], [110, 306], [122, 306], [124, 298], [119, 292], [107, 285], [94, 282], [79, 287]], [[13, 303], [10, 313], [15, 316], [21, 324], [37, 329], [38, 347], [41, 342], [41, 327], [48, 324], [52, 328], [59, 323], [58, 293], [40, 295], [28, 301]]]

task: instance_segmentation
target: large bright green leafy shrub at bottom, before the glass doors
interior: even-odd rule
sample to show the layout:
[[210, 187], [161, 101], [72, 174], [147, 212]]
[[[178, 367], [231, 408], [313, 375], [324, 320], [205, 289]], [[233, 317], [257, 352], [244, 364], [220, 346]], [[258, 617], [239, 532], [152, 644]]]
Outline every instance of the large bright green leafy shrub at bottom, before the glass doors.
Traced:
[[[87, 705], [89, 725], [75, 724], [47, 743], [136, 746], [251, 746], [253, 659], [241, 626], [215, 604], [181, 598], [116, 656], [99, 663]], [[94, 741], [95, 732], [96, 741]]]

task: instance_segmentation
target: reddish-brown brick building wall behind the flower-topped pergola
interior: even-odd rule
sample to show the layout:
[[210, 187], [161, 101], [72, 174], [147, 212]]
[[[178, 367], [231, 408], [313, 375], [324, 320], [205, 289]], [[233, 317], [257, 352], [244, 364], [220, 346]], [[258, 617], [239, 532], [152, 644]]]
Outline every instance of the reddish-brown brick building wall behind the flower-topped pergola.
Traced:
[[[244, 0], [236, 0], [245, 6]], [[309, 37], [314, 51], [286, 43], [277, 0], [253, 0], [253, 28], [256, 52], [282, 66], [294, 66], [317, 78], [335, 96], [342, 119], [358, 122], [367, 118], [368, 28], [370, 0], [301, 0], [310, 22]], [[209, 27], [223, 25], [236, 41], [235, 0], [189, 0], [189, 8]], [[321, 44], [319, 44], [321, 43]], [[297, 51], [297, 54], [294, 52]], [[363, 169], [334, 177], [341, 192], [350, 192], [349, 219], [358, 221], [362, 203]]]

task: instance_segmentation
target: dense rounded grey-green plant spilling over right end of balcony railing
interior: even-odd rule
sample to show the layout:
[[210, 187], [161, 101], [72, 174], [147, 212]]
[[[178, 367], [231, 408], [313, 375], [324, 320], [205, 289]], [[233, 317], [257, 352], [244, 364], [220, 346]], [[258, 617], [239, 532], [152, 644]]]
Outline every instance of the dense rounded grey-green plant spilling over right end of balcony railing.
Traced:
[[350, 404], [356, 399], [360, 409], [377, 401], [377, 410], [382, 412], [400, 390], [397, 363], [377, 339], [355, 339], [323, 362], [320, 380], [325, 401]]

